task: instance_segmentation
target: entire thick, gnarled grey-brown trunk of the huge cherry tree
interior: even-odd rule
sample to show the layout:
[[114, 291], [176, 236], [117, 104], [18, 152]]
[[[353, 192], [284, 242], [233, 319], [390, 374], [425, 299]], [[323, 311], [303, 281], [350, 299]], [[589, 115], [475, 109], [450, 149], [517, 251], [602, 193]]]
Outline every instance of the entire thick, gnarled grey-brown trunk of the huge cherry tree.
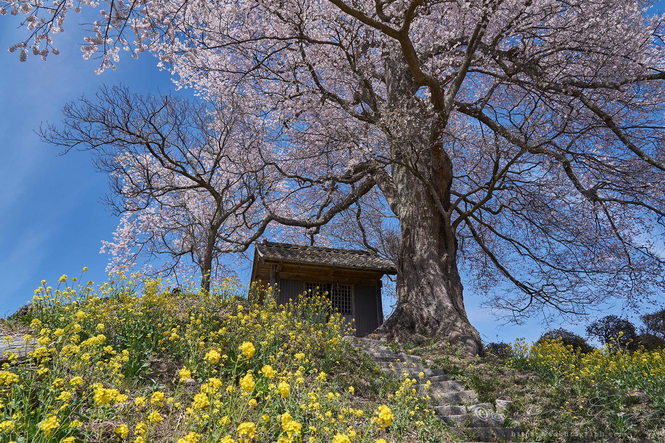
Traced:
[[434, 119], [428, 126], [426, 119], [413, 117], [426, 115], [426, 106], [416, 96], [418, 87], [399, 46], [385, 50], [386, 92], [393, 113], [386, 129], [396, 160], [392, 163], [395, 197], [391, 207], [400, 219], [402, 245], [397, 262], [397, 306], [376, 333], [400, 341], [436, 337], [445, 343], [461, 343], [465, 351], [479, 354], [483, 350], [480, 335], [464, 310], [456, 236], [450, 216], [443, 215], [450, 213], [453, 181], [452, 163], [440, 135], [443, 123]]

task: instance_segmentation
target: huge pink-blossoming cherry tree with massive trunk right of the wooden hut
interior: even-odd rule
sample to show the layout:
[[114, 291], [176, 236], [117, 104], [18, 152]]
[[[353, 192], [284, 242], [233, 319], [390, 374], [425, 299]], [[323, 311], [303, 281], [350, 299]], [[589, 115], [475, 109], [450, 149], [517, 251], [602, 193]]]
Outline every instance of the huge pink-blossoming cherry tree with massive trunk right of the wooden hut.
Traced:
[[[60, 22], [12, 5], [41, 54]], [[380, 196], [400, 242], [398, 305], [377, 333], [479, 351], [460, 267], [515, 321], [664, 286], [665, 60], [649, 1], [109, 5], [82, 47], [100, 71], [149, 50], [180, 86], [242, 97], [261, 119], [261, 160], [294, 187], [261, 220], [316, 234]], [[372, 246], [366, 227], [354, 235]]]

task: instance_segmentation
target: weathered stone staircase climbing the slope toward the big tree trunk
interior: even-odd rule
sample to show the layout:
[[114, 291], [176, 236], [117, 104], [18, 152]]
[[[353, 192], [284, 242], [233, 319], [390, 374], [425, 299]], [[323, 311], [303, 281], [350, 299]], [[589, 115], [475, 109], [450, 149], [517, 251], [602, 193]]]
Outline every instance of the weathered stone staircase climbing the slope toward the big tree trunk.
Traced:
[[[451, 380], [452, 375], [442, 369], [427, 369], [432, 361], [415, 355], [394, 353], [384, 341], [358, 337], [344, 337], [370, 355], [383, 371], [398, 379], [407, 373], [420, 383], [420, 396], [430, 397], [436, 415], [450, 426], [450, 431], [463, 440], [478, 442], [515, 442], [521, 428], [503, 428], [505, 408], [509, 400], [496, 400], [496, 412], [491, 403], [479, 403], [475, 391], [464, 389], [464, 384]], [[420, 377], [420, 373], [424, 377]], [[428, 381], [430, 388], [426, 389]]]

